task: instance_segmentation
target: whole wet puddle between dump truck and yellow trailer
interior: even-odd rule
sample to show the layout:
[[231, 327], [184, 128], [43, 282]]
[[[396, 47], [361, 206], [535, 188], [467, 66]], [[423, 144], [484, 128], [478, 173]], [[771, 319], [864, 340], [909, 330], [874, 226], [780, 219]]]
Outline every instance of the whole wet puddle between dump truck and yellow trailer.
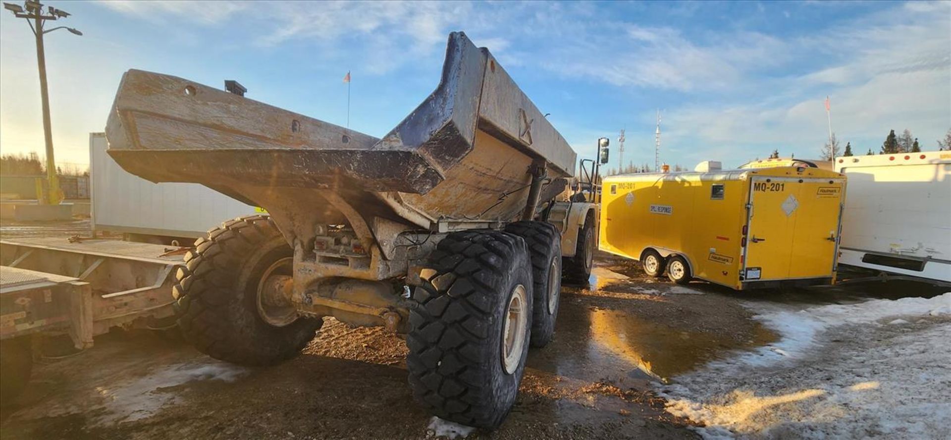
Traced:
[[[715, 308], [707, 312], [708, 305], [733, 299], [693, 286], [645, 282], [595, 267], [588, 289], [567, 287], [565, 293], [556, 329], [558, 354], [530, 358], [530, 366], [567, 377], [670, 383], [729, 352], [776, 340], [760, 323], [735, 313], [722, 320], [742, 319], [742, 325], [695, 325], [689, 314], [716, 314]], [[732, 307], [737, 309], [742, 307]]]

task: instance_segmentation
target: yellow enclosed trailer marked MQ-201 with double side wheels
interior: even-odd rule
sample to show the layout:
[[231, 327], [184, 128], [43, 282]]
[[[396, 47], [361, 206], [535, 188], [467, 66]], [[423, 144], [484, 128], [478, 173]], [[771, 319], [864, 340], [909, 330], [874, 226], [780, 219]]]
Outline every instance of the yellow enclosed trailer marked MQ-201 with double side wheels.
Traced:
[[599, 247], [680, 283], [829, 284], [844, 186], [842, 174], [792, 166], [611, 176]]

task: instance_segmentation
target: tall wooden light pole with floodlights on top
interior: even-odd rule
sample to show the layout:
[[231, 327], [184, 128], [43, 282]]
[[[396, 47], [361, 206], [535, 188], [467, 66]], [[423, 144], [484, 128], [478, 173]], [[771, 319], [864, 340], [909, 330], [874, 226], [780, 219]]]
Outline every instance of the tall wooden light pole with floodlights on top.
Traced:
[[76, 35], [82, 35], [79, 30], [60, 26], [53, 29], [43, 29], [43, 24], [47, 20], [57, 20], [69, 16], [65, 10], [57, 10], [53, 7], [47, 7], [47, 14], [43, 13], [43, 5], [37, 0], [27, 0], [23, 6], [12, 3], [4, 3], [4, 9], [13, 12], [16, 18], [26, 18], [29, 29], [33, 30], [36, 36], [36, 64], [40, 69], [40, 98], [43, 101], [43, 134], [47, 143], [47, 194], [40, 197], [39, 202], [44, 204], [59, 204], [62, 200], [59, 187], [59, 179], [56, 177], [56, 162], [53, 158], [53, 132], [52, 123], [49, 121], [49, 90], [47, 89], [47, 59], [43, 49], [43, 34], [56, 29], [68, 29]]

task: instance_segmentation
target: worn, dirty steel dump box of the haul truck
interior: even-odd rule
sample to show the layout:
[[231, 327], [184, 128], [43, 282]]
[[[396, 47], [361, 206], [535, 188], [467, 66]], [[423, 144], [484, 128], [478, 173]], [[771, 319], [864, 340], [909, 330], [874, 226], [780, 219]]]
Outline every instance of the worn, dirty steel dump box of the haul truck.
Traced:
[[126, 72], [107, 139], [126, 171], [262, 206], [289, 240], [355, 214], [417, 228], [512, 220], [530, 166], [568, 177], [576, 157], [489, 50], [462, 32], [449, 37], [436, 91], [382, 139], [142, 70]]

